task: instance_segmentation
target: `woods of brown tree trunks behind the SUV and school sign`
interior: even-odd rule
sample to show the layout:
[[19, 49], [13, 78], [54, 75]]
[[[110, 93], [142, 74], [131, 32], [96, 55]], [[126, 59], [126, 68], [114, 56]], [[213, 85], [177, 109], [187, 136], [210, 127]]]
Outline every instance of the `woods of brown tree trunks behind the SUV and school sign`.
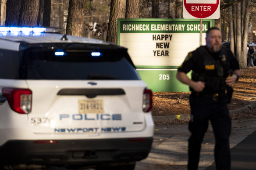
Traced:
[[[63, 34], [117, 43], [117, 18], [183, 18], [182, 0], [0, 0], [1, 26], [61, 28]], [[256, 0], [220, 0], [223, 42], [242, 68], [256, 42]]]

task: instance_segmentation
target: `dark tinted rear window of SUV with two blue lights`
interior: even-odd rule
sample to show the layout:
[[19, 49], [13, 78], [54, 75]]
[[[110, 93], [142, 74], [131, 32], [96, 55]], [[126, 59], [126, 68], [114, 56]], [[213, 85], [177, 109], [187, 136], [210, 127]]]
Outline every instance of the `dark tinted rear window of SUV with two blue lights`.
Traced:
[[29, 80], [139, 80], [126, 49], [25, 50], [21, 78]]

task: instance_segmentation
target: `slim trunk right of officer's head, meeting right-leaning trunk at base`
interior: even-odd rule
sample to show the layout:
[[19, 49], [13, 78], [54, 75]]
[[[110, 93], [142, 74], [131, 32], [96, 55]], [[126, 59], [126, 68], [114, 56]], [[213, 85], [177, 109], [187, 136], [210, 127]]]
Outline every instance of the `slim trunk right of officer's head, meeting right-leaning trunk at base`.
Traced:
[[238, 3], [236, 5], [236, 21], [237, 21], [237, 27], [236, 27], [236, 58], [238, 59], [239, 65], [241, 68], [246, 67], [246, 63], [243, 61], [242, 57], [242, 33], [241, 33], [241, 3]]

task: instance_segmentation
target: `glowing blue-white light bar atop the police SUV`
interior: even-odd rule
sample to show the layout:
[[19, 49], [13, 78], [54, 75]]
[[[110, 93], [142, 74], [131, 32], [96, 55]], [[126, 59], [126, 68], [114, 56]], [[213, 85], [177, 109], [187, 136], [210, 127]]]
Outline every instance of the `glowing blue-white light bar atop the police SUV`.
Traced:
[[44, 32], [42, 27], [0, 27], [0, 32]]

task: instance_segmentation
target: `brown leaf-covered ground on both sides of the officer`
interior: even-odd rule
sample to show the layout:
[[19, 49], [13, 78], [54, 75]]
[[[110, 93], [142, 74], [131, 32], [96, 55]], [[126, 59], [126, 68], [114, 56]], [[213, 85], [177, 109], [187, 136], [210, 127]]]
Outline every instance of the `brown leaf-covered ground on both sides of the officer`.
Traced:
[[[228, 108], [230, 110], [242, 108], [256, 101], [256, 67], [242, 69], [239, 81], [234, 84], [234, 93]], [[154, 92], [153, 93], [153, 116], [167, 116], [178, 114], [190, 114], [189, 106], [190, 92]], [[252, 111], [245, 111], [243, 115], [255, 115]], [[238, 118], [233, 115], [232, 118]]]

